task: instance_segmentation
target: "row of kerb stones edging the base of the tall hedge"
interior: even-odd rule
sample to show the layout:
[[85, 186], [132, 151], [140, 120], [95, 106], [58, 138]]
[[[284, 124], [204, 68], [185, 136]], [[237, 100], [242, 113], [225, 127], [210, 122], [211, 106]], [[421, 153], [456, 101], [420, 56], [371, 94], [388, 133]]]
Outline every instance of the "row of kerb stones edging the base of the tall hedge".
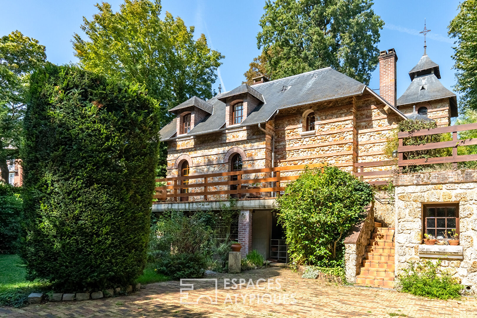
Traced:
[[[135, 285], [135, 291], [141, 289], [141, 284]], [[42, 300], [47, 301], [73, 301], [73, 300], [89, 300], [89, 299], [100, 299], [103, 297], [113, 297], [114, 295], [119, 295], [122, 291], [120, 287], [117, 288], [110, 288], [105, 289], [103, 291], [95, 291], [92, 293], [89, 292], [81, 292], [81, 293], [48, 293], [48, 294], [41, 294], [41, 293], [31, 293], [28, 296], [28, 302], [30, 304], [39, 304]], [[125, 290], [126, 293], [130, 294], [133, 292], [133, 286], [129, 285]], [[45, 299], [45, 295], [48, 296], [48, 299]]]

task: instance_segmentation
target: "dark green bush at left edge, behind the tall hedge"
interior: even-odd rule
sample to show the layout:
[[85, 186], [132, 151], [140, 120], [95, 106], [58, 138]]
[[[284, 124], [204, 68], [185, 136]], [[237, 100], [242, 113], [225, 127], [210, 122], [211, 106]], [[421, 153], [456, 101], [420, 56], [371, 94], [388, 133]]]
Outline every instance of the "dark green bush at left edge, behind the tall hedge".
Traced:
[[0, 183], [0, 254], [14, 253], [21, 233], [21, 188]]

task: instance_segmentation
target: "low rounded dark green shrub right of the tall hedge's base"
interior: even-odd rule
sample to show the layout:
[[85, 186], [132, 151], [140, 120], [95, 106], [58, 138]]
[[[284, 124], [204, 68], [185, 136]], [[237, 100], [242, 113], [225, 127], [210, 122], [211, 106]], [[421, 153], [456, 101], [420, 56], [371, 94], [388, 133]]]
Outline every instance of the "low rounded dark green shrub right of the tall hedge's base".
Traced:
[[200, 278], [205, 273], [205, 259], [199, 253], [164, 254], [156, 263], [157, 272], [174, 279]]

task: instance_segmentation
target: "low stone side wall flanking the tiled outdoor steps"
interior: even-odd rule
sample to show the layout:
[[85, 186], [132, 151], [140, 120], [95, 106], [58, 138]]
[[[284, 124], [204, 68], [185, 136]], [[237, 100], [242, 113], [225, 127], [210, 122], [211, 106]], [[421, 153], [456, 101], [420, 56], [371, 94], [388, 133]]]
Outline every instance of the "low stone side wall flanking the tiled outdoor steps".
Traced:
[[348, 283], [356, 282], [363, 261], [366, 246], [374, 230], [374, 202], [365, 207], [366, 218], [355, 225], [344, 239], [344, 270]]

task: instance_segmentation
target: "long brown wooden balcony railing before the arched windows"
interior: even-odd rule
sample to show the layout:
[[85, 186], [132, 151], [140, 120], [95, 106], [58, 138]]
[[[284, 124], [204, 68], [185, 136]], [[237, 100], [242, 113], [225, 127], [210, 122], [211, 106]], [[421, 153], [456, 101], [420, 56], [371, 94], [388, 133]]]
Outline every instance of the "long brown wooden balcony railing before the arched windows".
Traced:
[[[297, 172], [305, 169], [306, 166], [309, 168], [319, 168], [324, 165], [325, 164], [300, 164], [284, 167], [249, 169], [215, 174], [195, 174], [184, 177], [156, 179], [156, 182], [167, 182], [167, 185], [156, 187], [156, 195], [154, 195], [153, 198], [158, 201], [166, 201], [167, 198], [172, 198], [173, 201], [177, 201], [181, 200], [180, 198], [199, 196], [203, 197], [203, 200], [209, 200], [210, 196], [224, 195], [227, 197], [235, 196], [241, 198], [242, 195], [256, 193], [270, 193], [270, 197], [273, 197], [274, 195], [280, 195], [280, 191], [285, 190], [285, 187], [280, 185], [281, 182], [298, 179], [300, 174]], [[244, 174], [272, 174], [272, 176], [242, 179], [242, 175]], [[275, 174], [275, 176], [273, 176], [273, 174]], [[236, 176], [237, 180], [230, 180], [231, 176]], [[222, 180], [210, 182], [209, 179], [211, 178]], [[198, 182], [196, 181], [196, 183], [192, 183], [192, 180], [198, 180]], [[252, 184], [263, 185], [266, 183], [269, 183], [271, 186], [250, 189], [247, 189], [246, 186]], [[237, 185], [237, 189], [218, 190], [218, 188], [228, 188], [230, 185]], [[195, 192], [189, 190], [194, 190]], [[201, 199], [199, 198], [198, 201], [201, 201]]]

